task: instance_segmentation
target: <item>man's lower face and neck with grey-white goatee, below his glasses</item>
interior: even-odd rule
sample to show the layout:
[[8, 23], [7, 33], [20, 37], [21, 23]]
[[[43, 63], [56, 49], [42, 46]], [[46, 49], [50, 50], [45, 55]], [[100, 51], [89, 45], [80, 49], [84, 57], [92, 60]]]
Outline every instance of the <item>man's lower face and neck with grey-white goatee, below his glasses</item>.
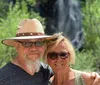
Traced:
[[36, 68], [39, 70], [39, 59], [43, 56], [45, 46], [24, 47], [19, 42], [14, 42], [18, 56], [12, 61], [28, 74], [34, 75]]

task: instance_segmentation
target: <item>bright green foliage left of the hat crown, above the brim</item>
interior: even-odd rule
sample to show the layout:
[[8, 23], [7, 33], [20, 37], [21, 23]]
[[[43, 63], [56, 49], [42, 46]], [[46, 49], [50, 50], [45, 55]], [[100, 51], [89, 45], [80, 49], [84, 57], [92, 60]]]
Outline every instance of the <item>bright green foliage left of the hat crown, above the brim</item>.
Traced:
[[[26, 10], [26, 9], [25, 9]], [[11, 37], [15, 35], [17, 25], [21, 19], [25, 19], [29, 17], [29, 13], [24, 11], [24, 9], [19, 8], [19, 3], [17, 3], [14, 7], [12, 4], [9, 6], [9, 12], [7, 13], [6, 19], [1, 18], [0, 21], [0, 31], [3, 31], [2, 38]], [[8, 34], [6, 34], [8, 33]]]

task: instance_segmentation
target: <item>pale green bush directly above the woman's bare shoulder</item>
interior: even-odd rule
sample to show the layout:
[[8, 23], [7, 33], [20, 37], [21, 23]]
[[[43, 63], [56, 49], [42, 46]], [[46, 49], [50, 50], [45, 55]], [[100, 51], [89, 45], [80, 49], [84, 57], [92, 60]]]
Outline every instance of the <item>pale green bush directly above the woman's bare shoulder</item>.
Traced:
[[96, 67], [94, 67], [94, 63], [96, 61], [96, 57], [93, 55], [92, 51], [82, 51], [76, 52], [76, 62], [72, 67], [81, 71], [95, 71]]

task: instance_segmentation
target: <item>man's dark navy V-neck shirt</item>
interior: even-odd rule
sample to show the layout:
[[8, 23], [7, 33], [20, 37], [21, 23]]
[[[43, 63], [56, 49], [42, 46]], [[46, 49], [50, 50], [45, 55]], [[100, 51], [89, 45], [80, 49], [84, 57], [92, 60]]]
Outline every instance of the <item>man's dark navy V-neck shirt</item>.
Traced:
[[41, 63], [39, 72], [33, 76], [11, 62], [0, 69], [0, 85], [48, 85], [52, 76], [50, 67]]

